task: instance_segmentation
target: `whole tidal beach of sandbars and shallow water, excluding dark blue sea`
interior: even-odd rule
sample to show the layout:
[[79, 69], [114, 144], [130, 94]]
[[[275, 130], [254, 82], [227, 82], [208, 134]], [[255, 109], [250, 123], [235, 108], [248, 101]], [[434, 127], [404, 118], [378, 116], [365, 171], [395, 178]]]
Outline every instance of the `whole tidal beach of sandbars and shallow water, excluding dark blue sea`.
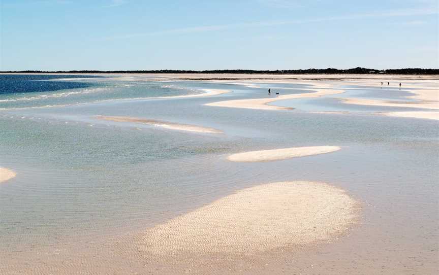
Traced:
[[436, 76], [96, 76], [0, 94], [0, 273], [437, 269]]

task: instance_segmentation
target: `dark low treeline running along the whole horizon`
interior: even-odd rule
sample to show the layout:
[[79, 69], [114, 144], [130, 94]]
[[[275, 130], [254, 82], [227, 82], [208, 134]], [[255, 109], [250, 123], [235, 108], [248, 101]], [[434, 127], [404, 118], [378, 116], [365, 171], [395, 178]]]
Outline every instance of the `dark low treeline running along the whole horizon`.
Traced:
[[350, 68], [347, 70], [338, 70], [336, 68], [307, 70], [276, 70], [276, 71], [261, 71], [261, 70], [206, 70], [206, 71], [191, 71], [191, 70], [136, 70], [136, 71], [3, 71], [1, 73], [44, 73], [44, 74], [270, 74], [270, 75], [300, 75], [300, 74], [387, 74], [387, 75], [439, 75], [438, 69], [424, 69], [424, 68], [402, 68], [390, 70], [376, 70], [370, 68]]

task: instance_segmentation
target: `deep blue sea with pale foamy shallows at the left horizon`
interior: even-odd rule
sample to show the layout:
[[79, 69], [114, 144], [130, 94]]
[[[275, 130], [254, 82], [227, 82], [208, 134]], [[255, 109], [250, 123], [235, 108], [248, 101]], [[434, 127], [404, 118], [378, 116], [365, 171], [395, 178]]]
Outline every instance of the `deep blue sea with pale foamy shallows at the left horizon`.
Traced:
[[[135, 99], [202, 93], [194, 87], [167, 82], [119, 81], [111, 78], [73, 76], [6, 75], [0, 93], [0, 110], [87, 104], [115, 99]], [[45, 80], [42, 80], [45, 79]], [[52, 80], [51, 80], [52, 79]], [[22, 91], [22, 92], [21, 92]]]

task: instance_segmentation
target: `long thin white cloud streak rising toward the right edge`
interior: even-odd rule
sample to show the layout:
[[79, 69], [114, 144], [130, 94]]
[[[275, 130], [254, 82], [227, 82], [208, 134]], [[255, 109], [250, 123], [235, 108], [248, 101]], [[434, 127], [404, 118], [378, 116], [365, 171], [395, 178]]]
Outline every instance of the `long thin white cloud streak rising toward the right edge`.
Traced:
[[395, 10], [395, 11], [386, 11], [386, 12], [320, 17], [320, 18], [311, 18], [311, 19], [303, 19], [303, 20], [260, 21], [260, 22], [248, 22], [248, 23], [237, 23], [237, 24], [174, 28], [174, 29], [143, 32], [143, 33], [128, 33], [125, 35], [107, 37], [104, 40], [129, 39], [136, 37], [159, 36], [159, 35], [180, 35], [185, 33], [219, 31], [226, 29], [269, 27], [269, 26], [307, 24], [307, 23], [319, 23], [319, 22], [329, 22], [329, 21], [360, 20], [360, 19], [368, 19], [368, 18], [391, 18], [391, 17], [420, 16], [420, 15], [433, 15], [433, 14], [438, 14], [438, 11], [434, 8], [433, 9], [405, 9], [405, 10]]

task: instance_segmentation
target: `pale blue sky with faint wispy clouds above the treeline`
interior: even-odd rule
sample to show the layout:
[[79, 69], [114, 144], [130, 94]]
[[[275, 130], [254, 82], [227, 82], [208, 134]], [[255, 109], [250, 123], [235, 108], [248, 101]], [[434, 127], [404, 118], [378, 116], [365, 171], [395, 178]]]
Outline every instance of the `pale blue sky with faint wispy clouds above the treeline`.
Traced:
[[0, 0], [0, 71], [439, 68], [439, 0]]

